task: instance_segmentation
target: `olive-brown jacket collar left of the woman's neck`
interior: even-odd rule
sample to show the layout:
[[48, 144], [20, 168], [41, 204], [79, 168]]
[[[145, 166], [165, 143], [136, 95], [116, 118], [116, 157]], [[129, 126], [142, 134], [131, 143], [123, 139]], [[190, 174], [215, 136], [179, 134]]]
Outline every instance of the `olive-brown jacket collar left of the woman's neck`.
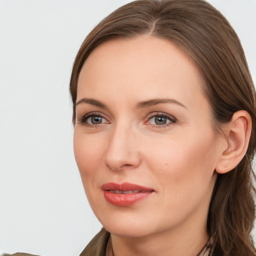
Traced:
[[105, 256], [110, 233], [102, 228], [87, 244], [79, 256]]

